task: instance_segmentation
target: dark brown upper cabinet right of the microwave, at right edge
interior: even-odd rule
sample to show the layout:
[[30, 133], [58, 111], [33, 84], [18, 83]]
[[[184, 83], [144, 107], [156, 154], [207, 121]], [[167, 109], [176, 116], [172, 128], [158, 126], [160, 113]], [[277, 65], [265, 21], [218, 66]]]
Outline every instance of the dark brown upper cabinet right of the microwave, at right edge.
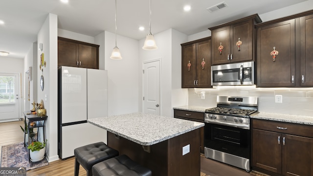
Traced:
[[[308, 11], [256, 25], [258, 87], [313, 86], [312, 14]], [[275, 58], [274, 50], [278, 52]]]

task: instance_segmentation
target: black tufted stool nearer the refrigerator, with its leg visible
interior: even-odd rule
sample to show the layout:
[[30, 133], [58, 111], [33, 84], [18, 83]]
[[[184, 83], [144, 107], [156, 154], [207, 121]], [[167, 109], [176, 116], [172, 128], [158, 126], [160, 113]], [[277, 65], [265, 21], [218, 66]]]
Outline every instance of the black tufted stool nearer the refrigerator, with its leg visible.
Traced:
[[79, 165], [87, 171], [87, 176], [92, 176], [91, 168], [94, 164], [118, 156], [118, 151], [110, 148], [104, 142], [97, 142], [76, 148], [75, 156], [75, 171], [74, 176], [78, 176]]

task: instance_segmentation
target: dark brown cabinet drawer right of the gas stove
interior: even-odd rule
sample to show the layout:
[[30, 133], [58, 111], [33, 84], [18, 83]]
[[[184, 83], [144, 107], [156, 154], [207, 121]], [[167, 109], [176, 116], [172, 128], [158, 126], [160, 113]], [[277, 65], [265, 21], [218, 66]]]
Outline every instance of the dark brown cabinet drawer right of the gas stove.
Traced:
[[282, 132], [287, 134], [313, 137], [313, 126], [310, 125], [253, 119], [252, 128], [272, 132]]

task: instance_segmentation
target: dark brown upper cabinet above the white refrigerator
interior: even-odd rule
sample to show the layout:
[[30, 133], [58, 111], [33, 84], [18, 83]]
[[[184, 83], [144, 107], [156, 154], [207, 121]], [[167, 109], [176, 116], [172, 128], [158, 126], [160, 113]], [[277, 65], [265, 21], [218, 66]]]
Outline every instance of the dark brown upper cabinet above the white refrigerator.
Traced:
[[99, 45], [58, 37], [58, 66], [99, 69]]

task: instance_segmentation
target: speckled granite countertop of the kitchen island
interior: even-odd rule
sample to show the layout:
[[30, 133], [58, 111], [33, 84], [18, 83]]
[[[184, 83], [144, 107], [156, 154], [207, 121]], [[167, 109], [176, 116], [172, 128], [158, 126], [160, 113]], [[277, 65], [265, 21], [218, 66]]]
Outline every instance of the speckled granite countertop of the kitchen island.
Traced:
[[90, 124], [140, 145], [153, 145], [201, 128], [204, 123], [141, 112], [88, 119]]

